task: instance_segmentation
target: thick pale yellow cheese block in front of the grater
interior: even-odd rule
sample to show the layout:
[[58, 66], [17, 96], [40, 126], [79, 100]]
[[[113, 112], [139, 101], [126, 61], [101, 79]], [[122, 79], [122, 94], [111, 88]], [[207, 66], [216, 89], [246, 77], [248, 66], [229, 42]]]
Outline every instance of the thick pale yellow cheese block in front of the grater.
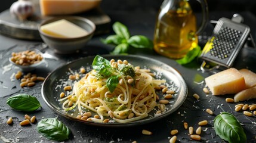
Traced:
[[236, 94], [245, 89], [245, 79], [235, 68], [220, 71], [205, 78], [212, 95]]

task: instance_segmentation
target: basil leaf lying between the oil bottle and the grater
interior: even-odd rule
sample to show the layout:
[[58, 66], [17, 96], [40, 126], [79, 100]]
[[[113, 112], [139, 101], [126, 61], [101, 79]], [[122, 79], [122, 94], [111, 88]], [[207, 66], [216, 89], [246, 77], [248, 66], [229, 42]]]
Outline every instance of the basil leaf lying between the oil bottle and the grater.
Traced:
[[200, 46], [196, 46], [191, 51], [187, 52], [187, 55], [185, 55], [184, 58], [181, 58], [179, 60], [176, 60], [178, 64], [188, 64], [191, 61], [193, 61], [198, 55], [200, 55], [202, 52]]

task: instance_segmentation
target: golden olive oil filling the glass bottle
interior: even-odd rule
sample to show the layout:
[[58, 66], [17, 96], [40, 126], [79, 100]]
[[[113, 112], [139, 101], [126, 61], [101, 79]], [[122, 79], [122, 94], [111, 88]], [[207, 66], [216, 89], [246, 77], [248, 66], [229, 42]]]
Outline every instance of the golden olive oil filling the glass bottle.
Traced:
[[154, 35], [155, 51], [175, 59], [183, 58], [198, 43], [196, 17], [189, 3], [181, 1], [177, 5], [178, 8], [168, 11], [161, 7]]

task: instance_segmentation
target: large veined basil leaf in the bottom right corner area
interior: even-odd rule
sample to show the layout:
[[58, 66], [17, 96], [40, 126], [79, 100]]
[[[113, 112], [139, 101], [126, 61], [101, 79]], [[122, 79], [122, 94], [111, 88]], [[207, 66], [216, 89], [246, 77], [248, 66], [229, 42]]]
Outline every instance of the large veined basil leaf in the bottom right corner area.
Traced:
[[215, 117], [214, 129], [220, 138], [228, 142], [246, 142], [246, 135], [233, 114], [223, 112]]

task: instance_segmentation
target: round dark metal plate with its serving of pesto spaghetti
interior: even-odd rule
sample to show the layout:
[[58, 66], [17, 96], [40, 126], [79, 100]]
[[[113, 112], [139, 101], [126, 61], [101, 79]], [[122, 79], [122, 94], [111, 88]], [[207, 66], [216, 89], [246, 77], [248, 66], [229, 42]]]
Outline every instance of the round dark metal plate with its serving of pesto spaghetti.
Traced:
[[162, 119], [186, 100], [177, 70], [138, 55], [96, 55], [54, 70], [42, 97], [56, 113], [95, 126], [134, 126]]

